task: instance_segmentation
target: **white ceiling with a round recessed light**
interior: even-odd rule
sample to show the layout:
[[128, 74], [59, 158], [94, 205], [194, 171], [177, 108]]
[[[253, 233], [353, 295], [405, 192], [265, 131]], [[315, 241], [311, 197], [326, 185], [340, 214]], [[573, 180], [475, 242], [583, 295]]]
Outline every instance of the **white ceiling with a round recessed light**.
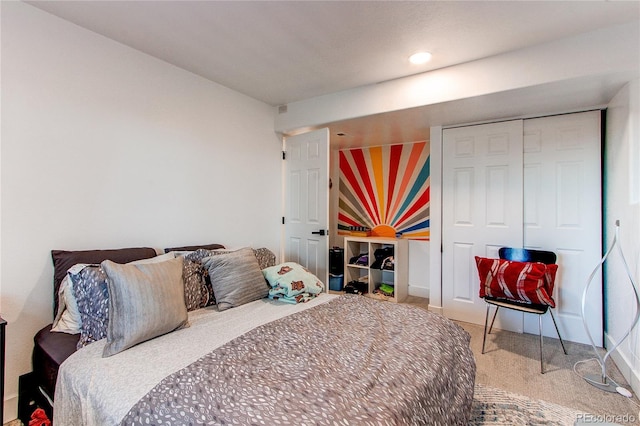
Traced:
[[[637, 1], [27, 3], [273, 106], [640, 18]], [[431, 52], [432, 60], [410, 64], [418, 50]], [[398, 120], [407, 129], [425, 113], [395, 114], [396, 130]], [[378, 127], [396, 131], [383, 118], [376, 117]], [[340, 125], [362, 139], [372, 123], [357, 123]], [[415, 137], [424, 133], [413, 130]]]

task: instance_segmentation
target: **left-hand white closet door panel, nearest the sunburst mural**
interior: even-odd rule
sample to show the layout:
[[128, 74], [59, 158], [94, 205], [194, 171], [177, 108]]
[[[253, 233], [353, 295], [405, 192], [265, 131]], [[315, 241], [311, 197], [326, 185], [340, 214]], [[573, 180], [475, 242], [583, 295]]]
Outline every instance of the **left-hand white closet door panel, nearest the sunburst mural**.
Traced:
[[[475, 256], [522, 245], [522, 141], [521, 120], [443, 131], [442, 302], [450, 318], [484, 323]], [[496, 327], [522, 331], [522, 315], [501, 310]]]

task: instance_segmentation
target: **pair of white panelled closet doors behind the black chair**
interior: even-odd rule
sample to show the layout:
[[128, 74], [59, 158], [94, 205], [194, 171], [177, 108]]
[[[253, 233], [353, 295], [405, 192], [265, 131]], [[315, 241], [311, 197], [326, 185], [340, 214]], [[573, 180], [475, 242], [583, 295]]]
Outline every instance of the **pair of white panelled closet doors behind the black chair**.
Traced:
[[[502, 246], [558, 255], [554, 299], [563, 338], [589, 343], [582, 291], [601, 256], [600, 112], [443, 130], [444, 314], [484, 323], [474, 256]], [[602, 342], [602, 283], [587, 298], [589, 330]], [[543, 334], [556, 337], [548, 316]], [[501, 309], [495, 327], [538, 333], [537, 316]]]

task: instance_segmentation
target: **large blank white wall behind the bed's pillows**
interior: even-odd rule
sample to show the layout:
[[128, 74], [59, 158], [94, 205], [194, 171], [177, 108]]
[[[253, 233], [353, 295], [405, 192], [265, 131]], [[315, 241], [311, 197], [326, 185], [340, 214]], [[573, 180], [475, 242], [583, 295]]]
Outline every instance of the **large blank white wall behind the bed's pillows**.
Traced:
[[2, 2], [5, 421], [52, 318], [51, 249], [220, 242], [279, 253], [275, 111], [21, 2]]

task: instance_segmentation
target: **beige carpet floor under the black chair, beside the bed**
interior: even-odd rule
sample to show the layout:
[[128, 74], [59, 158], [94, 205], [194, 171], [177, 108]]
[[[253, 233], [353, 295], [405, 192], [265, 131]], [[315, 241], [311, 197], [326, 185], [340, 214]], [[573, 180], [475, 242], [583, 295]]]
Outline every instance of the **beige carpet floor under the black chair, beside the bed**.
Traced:
[[[494, 330], [487, 336], [486, 351], [482, 354], [483, 326], [458, 324], [471, 335], [471, 349], [476, 359], [474, 413], [477, 414], [482, 404], [489, 404], [489, 407], [499, 407], [504, 415], [518, 416], [513, 419], [529, 415], [529, 420], [523, 423], [495, 423], [489, 416], [483, 417], [483, 422], [471, 424], [573, 425], [590, 424], [587, 422], [590, 419], [591, 424], [640, 425], [640, 401], [636, 396], [626, 398], [602, 391], [581, 377], [600, 372], [591, 346], [565, 342], [568, 352], [565, 355], [558, 339], [545, 337], [545, 374], [540, 374], [537, 335]], [[607, 365], [607, 373], [616, 383], [631, 390], [613, 362]], [[505, 401], [515, 403], [505, 405]], [[536, 417], [537, 407], [550, 415], [555, 412], [561, 416], [559, 420]]]

